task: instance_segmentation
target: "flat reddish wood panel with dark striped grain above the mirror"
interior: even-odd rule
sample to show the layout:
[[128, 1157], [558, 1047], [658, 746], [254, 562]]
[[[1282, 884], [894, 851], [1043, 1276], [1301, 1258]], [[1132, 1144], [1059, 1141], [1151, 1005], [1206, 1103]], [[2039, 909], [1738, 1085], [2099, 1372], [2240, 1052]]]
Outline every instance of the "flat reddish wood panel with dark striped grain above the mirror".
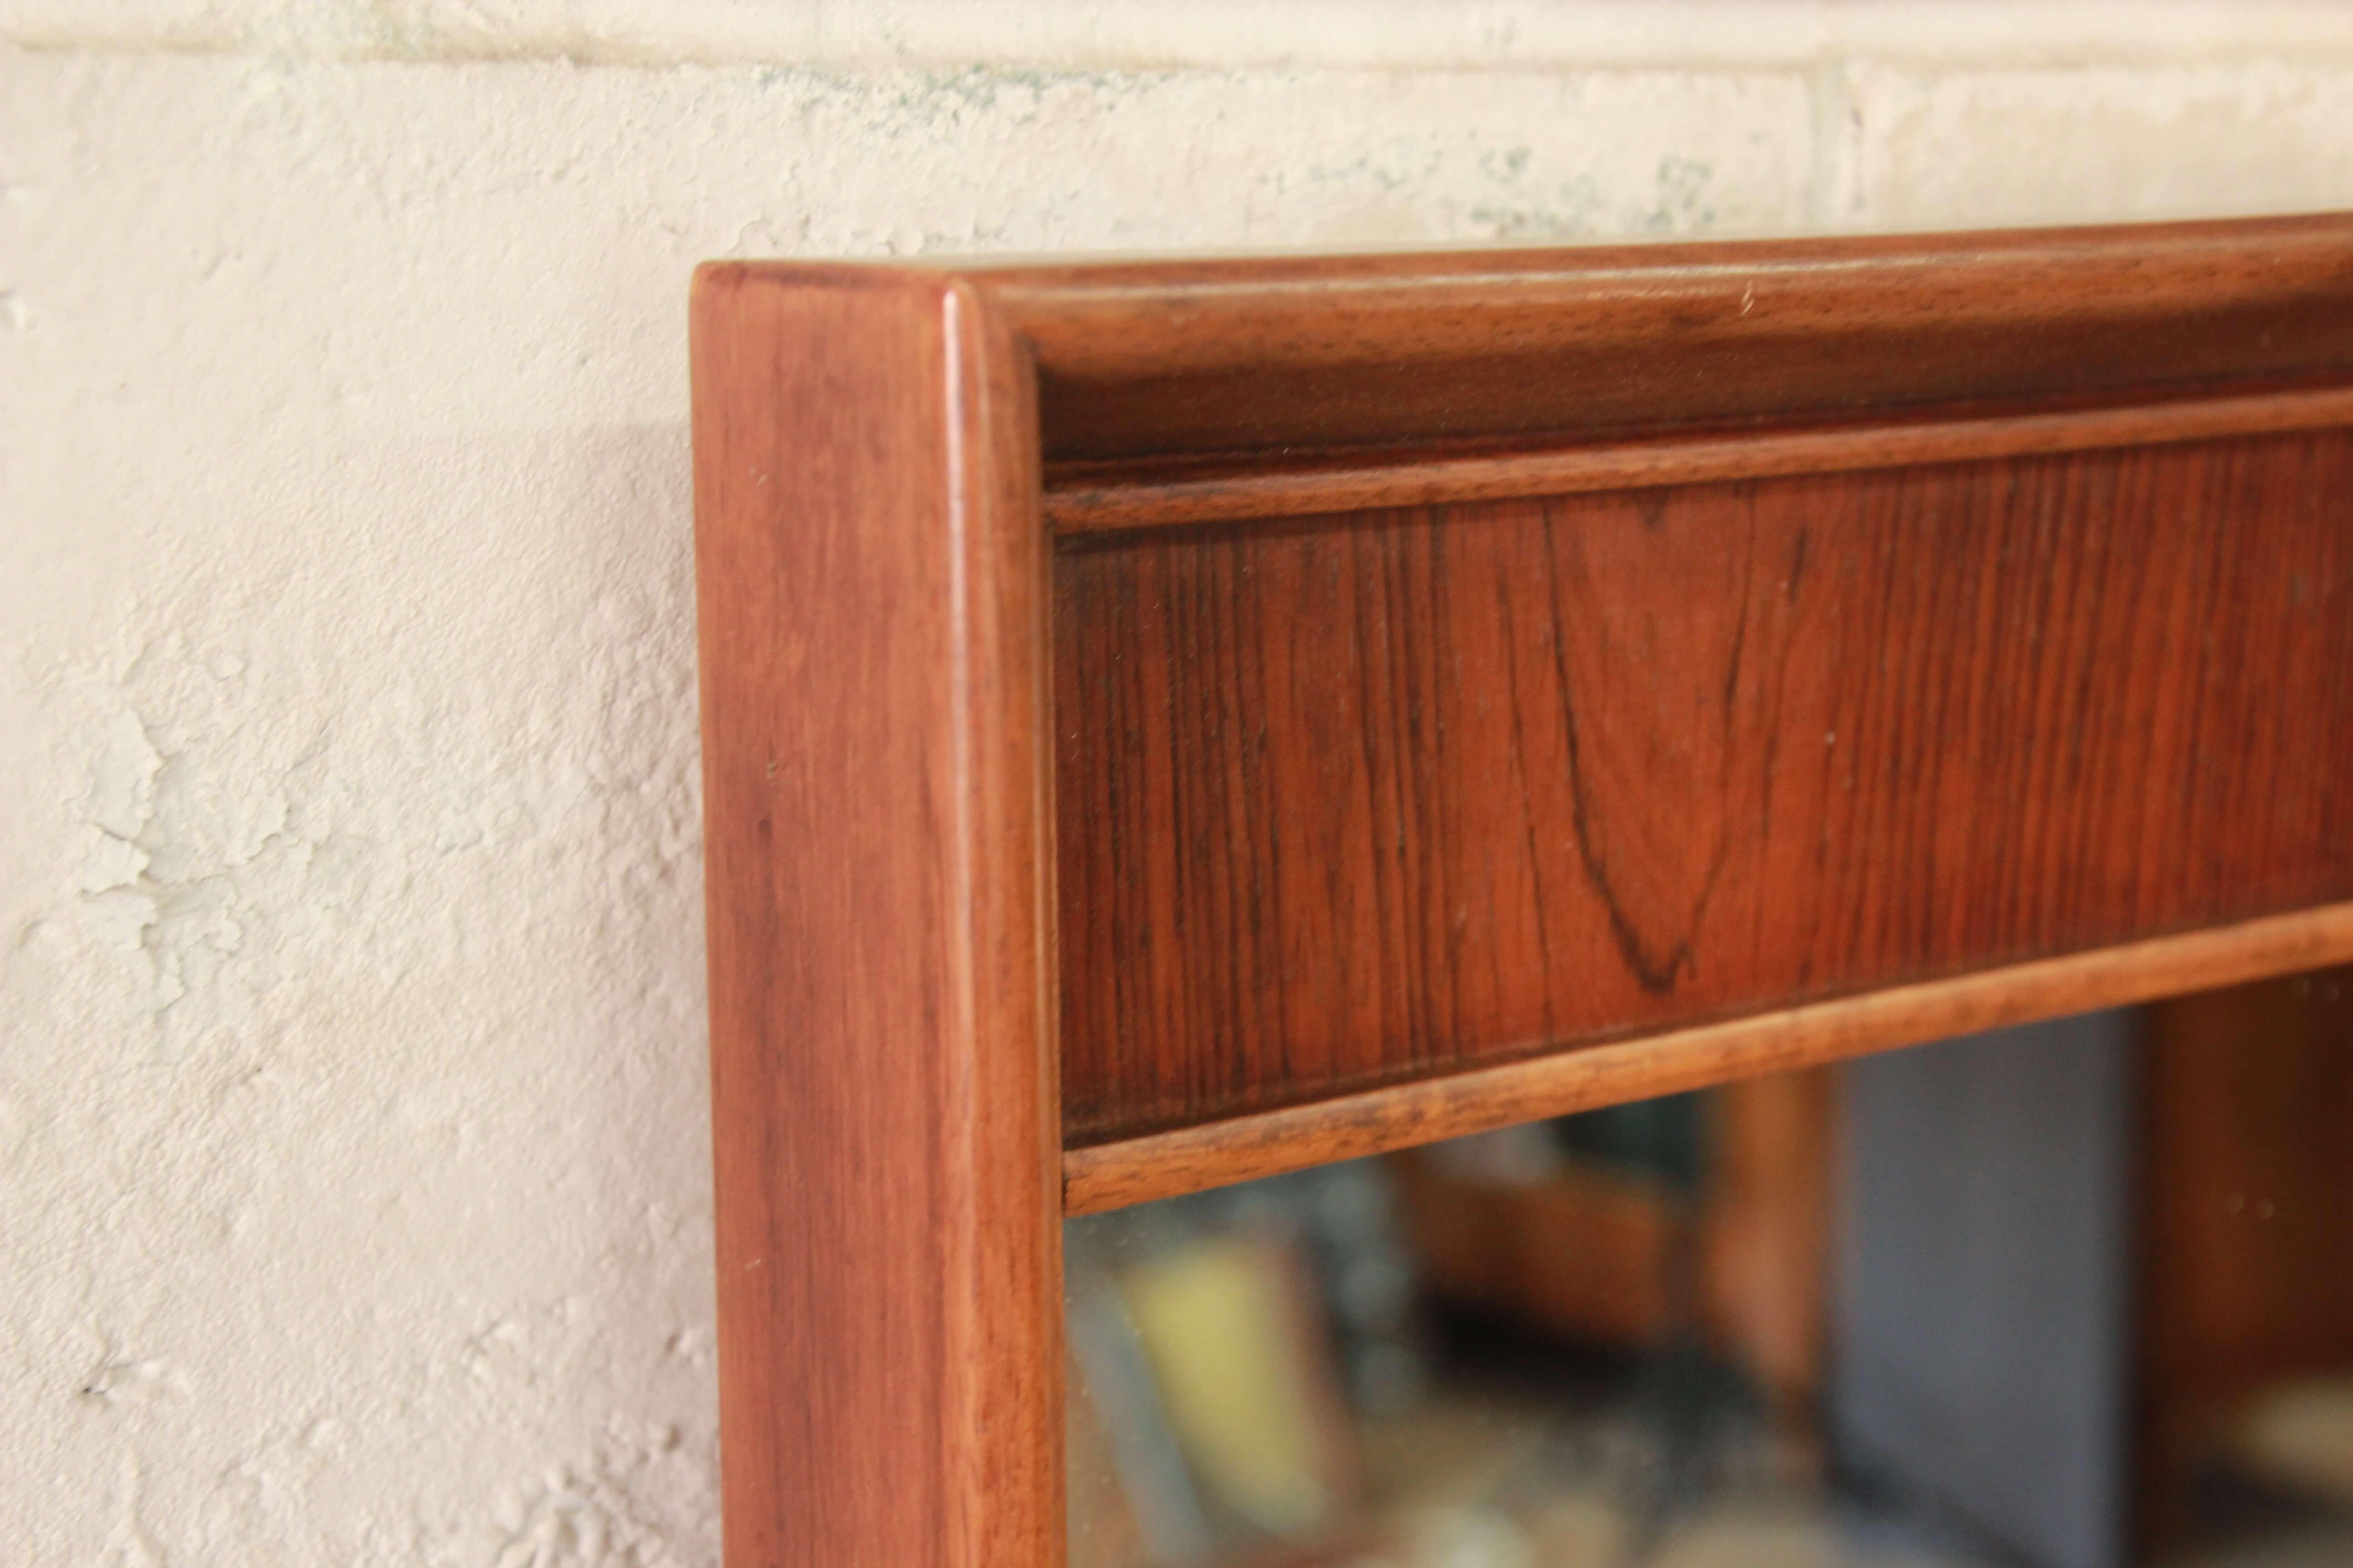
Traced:
[[2353, 435], [1054, 559], [1092, 1143], [2353, 898]]

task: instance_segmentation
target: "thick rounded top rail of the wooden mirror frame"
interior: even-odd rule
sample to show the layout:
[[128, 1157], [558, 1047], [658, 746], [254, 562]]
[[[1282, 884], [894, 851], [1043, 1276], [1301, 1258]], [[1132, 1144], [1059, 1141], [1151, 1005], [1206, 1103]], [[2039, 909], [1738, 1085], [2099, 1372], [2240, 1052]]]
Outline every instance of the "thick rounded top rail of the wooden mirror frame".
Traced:
[[974, 273], [1049, 461], [1619, 437], [2353, 364], [2353, 221]]

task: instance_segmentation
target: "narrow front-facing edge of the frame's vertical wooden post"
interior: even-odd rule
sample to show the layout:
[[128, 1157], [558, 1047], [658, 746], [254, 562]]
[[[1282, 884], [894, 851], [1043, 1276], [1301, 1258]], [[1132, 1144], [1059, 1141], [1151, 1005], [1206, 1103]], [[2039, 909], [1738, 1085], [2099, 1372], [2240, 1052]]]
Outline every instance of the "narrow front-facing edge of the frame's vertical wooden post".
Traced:
[[1049, 538], [1038, 381], [1012, 324], [969, 287], [941, 292], [958, 433], [969, 696], [972, 985], [984, 1016], [972, 1140], [969, 1316], [951, 1324], [965, 1472], [951, 1540], [972, 1563], [1064, 1563], [1061, 1048], [1056, 1039]]

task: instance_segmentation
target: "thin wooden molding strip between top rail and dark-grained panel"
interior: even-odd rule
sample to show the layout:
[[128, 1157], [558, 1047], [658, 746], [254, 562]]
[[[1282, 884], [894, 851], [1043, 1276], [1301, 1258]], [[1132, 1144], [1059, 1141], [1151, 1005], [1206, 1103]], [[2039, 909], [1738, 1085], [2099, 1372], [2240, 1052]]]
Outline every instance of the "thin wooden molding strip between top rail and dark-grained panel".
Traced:
[[2287, 435], [2353, 425], [2353, 388], [2294, 388], [2111, 409], [2057, 409], [1972, 418], [1918, 416], [1814, 430], [1654, 435], [1558, 449], [1468, 456], [1322, 458], [1297, 468], [1266, 461], [1162, 470], [1047, 470], [1052, 534], [1266, 522], [1360, 512], [1657, 489], [1727, 480], [1911, 468], [1984, 458], [2158, 447], [2231, 435]]

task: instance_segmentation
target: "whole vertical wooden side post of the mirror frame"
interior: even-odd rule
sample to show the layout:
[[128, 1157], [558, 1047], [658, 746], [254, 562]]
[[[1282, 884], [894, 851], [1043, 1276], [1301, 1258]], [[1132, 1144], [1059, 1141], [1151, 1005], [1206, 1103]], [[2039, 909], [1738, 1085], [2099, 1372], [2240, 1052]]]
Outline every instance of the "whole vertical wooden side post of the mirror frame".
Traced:
[[694, 299], [736, 1568], [1061, 1561], [1035, 416], [967, 292]]

